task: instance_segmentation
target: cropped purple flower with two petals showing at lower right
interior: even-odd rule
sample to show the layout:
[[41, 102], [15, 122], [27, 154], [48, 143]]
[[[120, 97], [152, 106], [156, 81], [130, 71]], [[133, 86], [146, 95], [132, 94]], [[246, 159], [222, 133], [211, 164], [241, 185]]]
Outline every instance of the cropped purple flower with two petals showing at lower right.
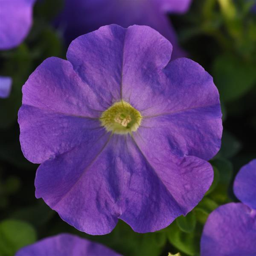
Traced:
[[256, 255], [256, 159], [242, 167], [234, 192], [242, 203], [225, 204], [208, 217], [201, 256]]

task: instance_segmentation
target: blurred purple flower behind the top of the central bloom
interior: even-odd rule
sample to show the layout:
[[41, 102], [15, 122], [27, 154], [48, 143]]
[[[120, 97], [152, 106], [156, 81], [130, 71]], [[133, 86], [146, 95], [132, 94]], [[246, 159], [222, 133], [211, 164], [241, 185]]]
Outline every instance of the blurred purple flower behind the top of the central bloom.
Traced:
[[185, 53], [178, 46], [166, 13], [184, 13], [190, 3], [191, 0], [65, 0], [57, 25], [64, 28], [68, 43], [79, 35], [113, 23], [122, 27], [151, 26], [172, 43], [174, 59]]

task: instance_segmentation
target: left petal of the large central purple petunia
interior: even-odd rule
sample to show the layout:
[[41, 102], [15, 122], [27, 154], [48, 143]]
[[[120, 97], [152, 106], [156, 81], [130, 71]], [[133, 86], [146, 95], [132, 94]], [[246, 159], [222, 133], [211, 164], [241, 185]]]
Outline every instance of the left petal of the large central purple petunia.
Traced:
[[103, 108], [102, 101], [95, 97], [70, 62], [45, 60], [23, 86], [18, 122], [24, 156], [42, 163], [81, 143], [96, 142], [105, 130], [98, 119], [102, 112], [96, 110]]

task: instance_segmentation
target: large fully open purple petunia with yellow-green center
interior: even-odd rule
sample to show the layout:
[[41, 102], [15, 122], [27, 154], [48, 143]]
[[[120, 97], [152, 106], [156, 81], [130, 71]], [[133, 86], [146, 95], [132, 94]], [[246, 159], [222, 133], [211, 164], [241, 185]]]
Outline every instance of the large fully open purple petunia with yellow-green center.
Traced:
[[212, 183], [221, 144], [218, 90], [197, 63], [147, 26], [74, 40], [23, 86], [23, 154], [41, 163], [36, 197], [90, 234], [118, 219], [140, 233], [191, 211]]

